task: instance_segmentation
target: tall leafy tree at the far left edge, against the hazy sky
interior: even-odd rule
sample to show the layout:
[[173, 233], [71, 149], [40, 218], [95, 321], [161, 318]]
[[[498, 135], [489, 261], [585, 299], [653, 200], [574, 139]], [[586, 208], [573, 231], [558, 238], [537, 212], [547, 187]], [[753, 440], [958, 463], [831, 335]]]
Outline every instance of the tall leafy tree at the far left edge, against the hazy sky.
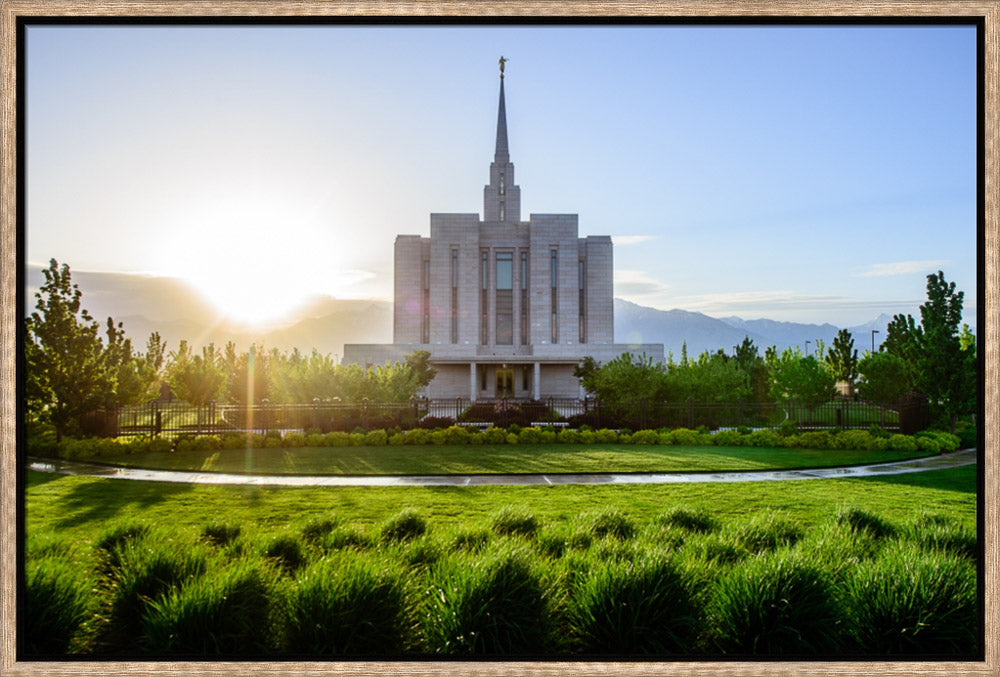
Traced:
[[104, 350], [69, 266], [52, 259], [42, 274], [35, 312], [25, 320], [26, 402], [29, 415], [51, 421], [61, 441], [107, 392]]

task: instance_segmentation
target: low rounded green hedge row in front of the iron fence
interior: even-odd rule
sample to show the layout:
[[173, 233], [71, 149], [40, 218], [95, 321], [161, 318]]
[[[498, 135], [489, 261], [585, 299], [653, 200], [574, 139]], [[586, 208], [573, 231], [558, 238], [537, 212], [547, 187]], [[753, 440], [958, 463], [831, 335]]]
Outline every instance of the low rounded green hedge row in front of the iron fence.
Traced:
[[[451, 426], [439, 430], [372, 430], [369, 432], [277, 433], [254, 435], [254, 448], [482, 445], [482, 444], [640, 444], [675, 446], [768, 447], [798, 449], [851, 449], [862, 451], [923, 451], [929, 454], [955, 451], [960, 440], [946, 432], [924, 431], [916, 435], [889, 435], [878, 430], [813, 431], [781, 434], [772, 430], [753, 432], [724, 430], [554, 430], [551, 428], [487, 428], [483, 431]], [[248, 446], [243, 435], [200, 435], [167, 438], [64, 440], [53, 450], [66, 459], [118, 456], [146, 452], [239, 450]], [[37, 451], [36, 451], [37, 453]]]

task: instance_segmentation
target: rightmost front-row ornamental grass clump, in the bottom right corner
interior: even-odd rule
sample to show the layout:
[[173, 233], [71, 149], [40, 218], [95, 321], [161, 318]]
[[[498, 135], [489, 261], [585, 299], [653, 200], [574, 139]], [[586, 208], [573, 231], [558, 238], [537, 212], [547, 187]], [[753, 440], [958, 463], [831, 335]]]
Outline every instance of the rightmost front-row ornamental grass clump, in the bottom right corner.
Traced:
[[851, 648], [864, 654], [947, 654], [979, 645], [976, 569], [951, 553], [895, 543], [846, 586]]

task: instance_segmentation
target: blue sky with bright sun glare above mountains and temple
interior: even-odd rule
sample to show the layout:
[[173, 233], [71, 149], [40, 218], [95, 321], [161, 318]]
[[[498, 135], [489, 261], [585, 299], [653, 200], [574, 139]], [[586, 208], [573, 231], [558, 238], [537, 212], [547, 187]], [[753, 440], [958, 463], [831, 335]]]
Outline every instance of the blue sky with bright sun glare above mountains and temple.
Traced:
[[480, 212], [497, 60], [529, 213], [615, 294], [722, 317], [975, 321], [975, 32], [941, 26], [27, 32], [27, 258], [184, 277], [242, 319], [391, 299], [392, 243]]

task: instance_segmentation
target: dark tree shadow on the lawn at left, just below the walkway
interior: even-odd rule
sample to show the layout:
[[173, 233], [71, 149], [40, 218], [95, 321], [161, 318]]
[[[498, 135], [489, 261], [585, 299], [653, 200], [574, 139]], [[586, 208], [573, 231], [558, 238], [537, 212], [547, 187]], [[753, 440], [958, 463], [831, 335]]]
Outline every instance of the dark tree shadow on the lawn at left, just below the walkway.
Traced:
[[74, 527], [93, 520], [109, 520], [126, 509], [148, 508], [190, 492], [193, 485], [180, 482], [131, 482], [98, 480], [75, 486], [59, 499], [65, 512], [55, 526]]

